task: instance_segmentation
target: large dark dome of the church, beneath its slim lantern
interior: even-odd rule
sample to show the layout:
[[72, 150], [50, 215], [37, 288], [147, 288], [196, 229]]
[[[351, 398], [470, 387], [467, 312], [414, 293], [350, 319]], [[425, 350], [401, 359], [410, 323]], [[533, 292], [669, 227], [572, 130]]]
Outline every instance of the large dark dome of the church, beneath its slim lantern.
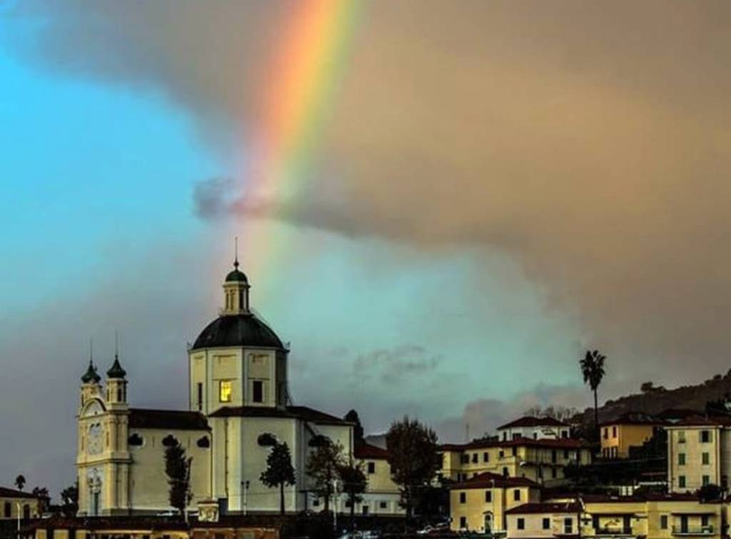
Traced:
[[284, 344], [268, 325], [251, 312], [246, 312], [213, 320], [195, 339], [192, 350], [249, 346], [284, 349]]

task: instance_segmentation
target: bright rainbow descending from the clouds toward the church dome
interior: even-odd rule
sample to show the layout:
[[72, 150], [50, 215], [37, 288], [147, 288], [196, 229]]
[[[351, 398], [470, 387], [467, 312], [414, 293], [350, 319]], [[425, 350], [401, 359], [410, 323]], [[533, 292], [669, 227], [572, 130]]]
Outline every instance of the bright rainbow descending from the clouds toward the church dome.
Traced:
[[[243, 174], [245, 197], [273, 200], [279, 206], [307, 188], [362, 4], [363, 0], [298, 0], [289, 5], [281, 47], [270, 61], [257, 104], [261, 116]], [[274, 263], [274, 251], [281, 252], [281, 245], [273, 249], [269, 238], [240, 233], [246, 265], [253, 273]]]

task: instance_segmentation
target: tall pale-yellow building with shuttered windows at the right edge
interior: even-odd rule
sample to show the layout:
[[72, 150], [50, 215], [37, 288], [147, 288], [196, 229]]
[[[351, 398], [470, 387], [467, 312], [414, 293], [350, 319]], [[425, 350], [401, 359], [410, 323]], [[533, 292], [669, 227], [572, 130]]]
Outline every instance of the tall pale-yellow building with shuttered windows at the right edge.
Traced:
[[667, 483], [671, 492], [713, 484], [726, 489], [731, 470], [731, 417], [694, 416], [668, 425]]

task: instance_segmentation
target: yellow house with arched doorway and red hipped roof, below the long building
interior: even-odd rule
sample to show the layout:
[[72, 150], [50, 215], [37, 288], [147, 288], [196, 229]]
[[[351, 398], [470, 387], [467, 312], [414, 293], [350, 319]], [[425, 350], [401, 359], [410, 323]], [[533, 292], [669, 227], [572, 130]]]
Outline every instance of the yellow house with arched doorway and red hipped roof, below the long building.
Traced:
[[450, 526], [453, 531], [499, 534], [507, 529], [507, 510], [539, 500], [539, 485], [529, 479], [482, 472], [450, 485]]

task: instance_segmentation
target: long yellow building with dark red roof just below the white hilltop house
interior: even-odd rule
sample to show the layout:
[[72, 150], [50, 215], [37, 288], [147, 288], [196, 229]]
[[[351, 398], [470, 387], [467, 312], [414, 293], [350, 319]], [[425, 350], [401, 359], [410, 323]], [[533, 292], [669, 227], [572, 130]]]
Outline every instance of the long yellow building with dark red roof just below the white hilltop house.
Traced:
[[590, 464], [591, 449], [570, 438], [529, 439], [447, 444], [442, 453], [442, 478], [464, 481], [483, 472], [537, 483], [561, 484], [568, 464]]

